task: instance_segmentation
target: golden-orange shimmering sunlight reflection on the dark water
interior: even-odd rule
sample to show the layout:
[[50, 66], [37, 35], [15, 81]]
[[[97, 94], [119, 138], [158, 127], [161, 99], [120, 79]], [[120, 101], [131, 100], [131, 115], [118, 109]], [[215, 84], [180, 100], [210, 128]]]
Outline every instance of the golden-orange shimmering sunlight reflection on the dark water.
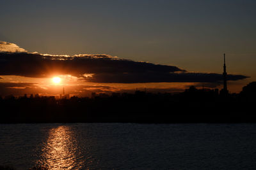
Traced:
[[38, 161], [49, 169], [81, 169], [84, 160], [77, 146], [76, 136], [71, 127], [60, 126], [49, 131], [49, 137]]

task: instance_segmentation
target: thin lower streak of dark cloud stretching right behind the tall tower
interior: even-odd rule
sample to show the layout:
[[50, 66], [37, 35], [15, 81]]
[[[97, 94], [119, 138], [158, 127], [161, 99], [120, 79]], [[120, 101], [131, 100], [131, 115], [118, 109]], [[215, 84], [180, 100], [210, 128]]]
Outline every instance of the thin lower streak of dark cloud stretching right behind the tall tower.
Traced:
[[[243, 75], [227, 76], [228, 80], [241, 80]], [[86, 80], [95, 83], [148, 83], [148, 82], [217, 82], [223, 80], [222, 74], [216, 73], [168, 73], [168, 72], [141, 72], [141, 73], [99, 73]]]

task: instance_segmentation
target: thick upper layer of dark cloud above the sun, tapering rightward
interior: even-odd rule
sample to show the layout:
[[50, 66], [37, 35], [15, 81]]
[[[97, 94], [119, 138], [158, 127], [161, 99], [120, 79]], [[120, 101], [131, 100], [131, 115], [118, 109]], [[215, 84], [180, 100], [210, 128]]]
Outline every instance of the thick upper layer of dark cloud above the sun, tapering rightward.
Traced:
[[[52, 74], [72, 74], [86, 76], [92, 74], [120, 73], [174, 73], [184, 71], [176, 66], [135, 62], [118, 59], [109, 55], [74, 55], [63, 57], [55, 55], [41, 55], [38, 53], [0, 53], [0, 75], [19, 75], [29, 77], [49, 77]], [[90, 76], [87, 76], [90, 77]], [[95, 79], [94, 79], [95, 81]]]

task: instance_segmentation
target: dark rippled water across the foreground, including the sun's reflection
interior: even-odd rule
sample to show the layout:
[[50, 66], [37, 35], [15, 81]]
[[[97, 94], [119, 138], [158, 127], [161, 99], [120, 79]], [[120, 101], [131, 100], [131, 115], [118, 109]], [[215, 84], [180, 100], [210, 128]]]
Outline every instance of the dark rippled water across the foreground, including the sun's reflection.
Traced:
[[0, 165], [256, 169], [256, 124], [0, 124]]

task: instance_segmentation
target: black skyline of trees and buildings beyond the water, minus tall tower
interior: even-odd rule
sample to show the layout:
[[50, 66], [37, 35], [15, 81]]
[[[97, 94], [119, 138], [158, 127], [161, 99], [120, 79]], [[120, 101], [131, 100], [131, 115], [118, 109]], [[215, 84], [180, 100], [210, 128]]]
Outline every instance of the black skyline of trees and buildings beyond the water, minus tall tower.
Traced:
[[[179, 94], [137, 90], [134, 93], [92, 93], [91, 97], [61, 95], [0, 97], [0, 123], [49, 122], [256, 122], [252, 112], [256, 82], [239, 94], [189, 87]], [[8, 111], [7, 111], [8, 110]]]

